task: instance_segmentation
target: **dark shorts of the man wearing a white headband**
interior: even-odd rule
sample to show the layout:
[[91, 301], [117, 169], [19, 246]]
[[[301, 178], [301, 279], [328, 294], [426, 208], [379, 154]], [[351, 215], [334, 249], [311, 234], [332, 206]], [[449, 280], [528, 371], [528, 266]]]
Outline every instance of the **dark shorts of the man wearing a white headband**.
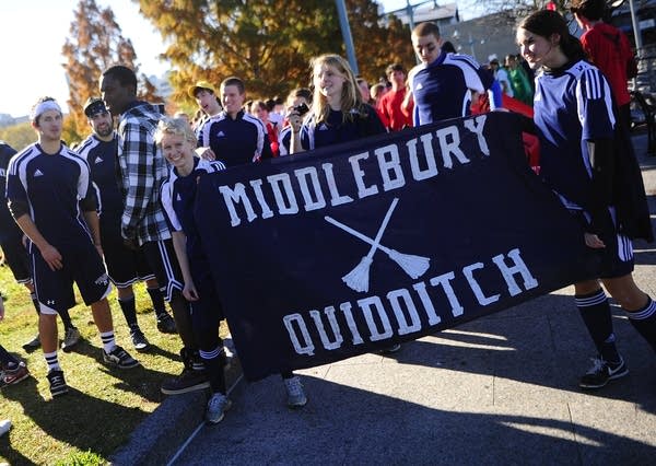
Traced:
[[73, 282], [78, 284], [86, 305], [109, 294], [109, 277], [91, 241], [57, 247], [57, 251], [61, 254], [63, 267], [60, 270], [50, 270], [38, 249], [33, 246], [34, 288], [42, 313], [55, 314], [72, 307], [75, 303]]

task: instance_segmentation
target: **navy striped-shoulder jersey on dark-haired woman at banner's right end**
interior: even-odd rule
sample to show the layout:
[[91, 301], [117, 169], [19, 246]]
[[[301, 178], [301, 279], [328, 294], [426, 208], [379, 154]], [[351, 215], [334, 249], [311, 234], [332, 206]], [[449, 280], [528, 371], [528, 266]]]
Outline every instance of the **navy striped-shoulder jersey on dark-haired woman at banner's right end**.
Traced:
[[534, 119], [540, 138], [540, 175], [566, 207], [590, 210], [595, 199], [588, 141], [614, 138], [608, 81], [582, 60], [542, 72], [536, 84]]

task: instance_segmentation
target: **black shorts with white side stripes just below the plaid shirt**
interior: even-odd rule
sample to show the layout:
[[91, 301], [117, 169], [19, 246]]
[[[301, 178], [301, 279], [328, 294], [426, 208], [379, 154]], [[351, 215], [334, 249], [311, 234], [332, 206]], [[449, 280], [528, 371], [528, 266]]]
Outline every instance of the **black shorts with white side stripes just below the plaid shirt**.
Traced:
[[175, 256], [173, 240], [149, 241], [139, 249], [143, 253], [150, 269], [155, 273], [160, 290], [166, 301], [173, 299], [174, 290], [183, 290], [183, 272]]

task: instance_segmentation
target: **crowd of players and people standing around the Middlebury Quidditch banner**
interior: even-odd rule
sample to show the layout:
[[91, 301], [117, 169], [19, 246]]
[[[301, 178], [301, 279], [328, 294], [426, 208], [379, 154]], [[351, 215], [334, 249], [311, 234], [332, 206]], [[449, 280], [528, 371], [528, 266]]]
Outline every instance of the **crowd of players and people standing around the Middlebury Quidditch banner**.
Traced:
[[[465, 117], [473, 96], [485, 98], [490, 110], [502, 110], [504, 94], [532, 106], [540, 176], [579, 220], [582, 241], [602, 263], [598, 279], [574, 287], [575, 304], [597, 349], [579, 385], [600, 388], [626, 375], [604, 288], [656, 350], [656, 304], [633, 281], [631, 246], [634, 238], [653, 240], [653, 233], [628, 137], [622, 63], [630, 50], [621, 33], [608, 38], [617, 30], [602, 23], [604, 8], [601, 0], [572, 2], [571, 12], [585, 31], [581, 42], [559, 13], [532, 13], [517, 28], [519, 57], [508, 55], [503, 65], [493, 59], [480, 66], [456, 54], [436, 25], [421, 23], [411, 36], [420, 63], [409, 72], [390, 63], [387, 82], [373, 86], [332, 54], [312, 60], [313, 90], [295, 89], [284, 102], [247, 102], [237, 77], [219, 86], [199, 81], [188, 89], [198, 104], [191, 121], [185, 115], [169, 118], [162, 106], [139, 101], [134, 72], [114, 66], [98, 77], [101, 96], [84, 105], [91, 136], [77, 151], [61, 142], [57, 102], [40, 98], [31, 114], [38, 141], [19, 153], [0, 145], [8, 205], [0, 206], [0, 240], [38, 314], [38, 338], [26, 348], [43, 348], [51, 395], [68, 392], [58, 359], [57, 315], [66, 329], [61, 348], [79, 339], [68, 315], [72, 283], [91, 307], [103, 362], [131, 369], [139, 362], [116, 342], [107, 296], [114, 283], [132, 346], [147, 351], [132, 291], [136, 282], [145, 281], [157, 328], [181, 340], [183, 370], [163, 382], [162, 392], [209, 388], [206, 419], [221, 421], [231, 405], [219, 337], [224, 316], [191, 214], [198, 177]], [[0, 303], [0, 319], [3, 314]], [[24, 362], [2, 347], [0, 362], [2, 385], [30, 375]], [[292, 371], [281, 376], [289, 406], [304, 406], [298, 376]]]

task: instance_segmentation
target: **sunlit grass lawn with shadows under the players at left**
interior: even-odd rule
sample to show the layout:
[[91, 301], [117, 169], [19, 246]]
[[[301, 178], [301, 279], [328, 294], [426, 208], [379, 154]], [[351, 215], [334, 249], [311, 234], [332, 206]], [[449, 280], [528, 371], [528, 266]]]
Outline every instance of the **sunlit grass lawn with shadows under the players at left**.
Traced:
[[[148, 353], [133, 350], [116, 292], [109, 296], [118, 345], [126, 348], [142, 366], [109, 370], [102, 364], [99, 335], [78, 295], [70, 313], [83, 340], [72, 352], [59, 351], [70, 392], [52, 399], [46, 380], [43, 353], [26, 353], [22, 345], [37, 331], [37, 316], [30, 293], [14, 282], [9, 267], [0, 267], [0, 290], [7, 298], [5, 316], [0, 322], [0, 342], [24, 360], [32, 373], [27, 380], [2, 388], [0, 419], [10, 419], [12, 429], [0, 438], [0, 463], [22, 464], [104, 464], [124, 444], [132, 430], [163, 399], [160, 384], [180, 372], [177, 335], [157, 331], [152, 303], [143, 284], [134, 287], [141, 329], [151, 343]], [[59, 322], [59, 338], [63, 327]], [[222, 334], [225, 329], [222, 328]]]

